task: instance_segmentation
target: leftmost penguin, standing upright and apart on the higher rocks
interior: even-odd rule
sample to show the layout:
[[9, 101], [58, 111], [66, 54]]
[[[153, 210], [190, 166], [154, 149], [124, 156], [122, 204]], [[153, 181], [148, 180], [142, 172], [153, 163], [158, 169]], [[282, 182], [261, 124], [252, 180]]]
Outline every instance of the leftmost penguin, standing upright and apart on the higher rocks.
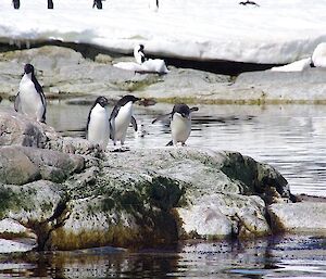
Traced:
[[14, 109], [38, 122], [46, 123], [47, 102], [43, 90], [34, 74], [34, 66], [26, 64], [20, 83]]

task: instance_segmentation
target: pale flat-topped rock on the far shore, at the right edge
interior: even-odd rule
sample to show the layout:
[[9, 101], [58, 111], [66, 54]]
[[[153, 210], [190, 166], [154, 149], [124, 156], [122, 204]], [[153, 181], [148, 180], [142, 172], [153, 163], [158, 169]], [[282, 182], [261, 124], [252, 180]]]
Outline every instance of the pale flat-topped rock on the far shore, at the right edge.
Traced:
[[230, 87], [243, 102], [324, 102], [326, 69], [308, 68], [303, 72], [252, 72], [238, 76]]

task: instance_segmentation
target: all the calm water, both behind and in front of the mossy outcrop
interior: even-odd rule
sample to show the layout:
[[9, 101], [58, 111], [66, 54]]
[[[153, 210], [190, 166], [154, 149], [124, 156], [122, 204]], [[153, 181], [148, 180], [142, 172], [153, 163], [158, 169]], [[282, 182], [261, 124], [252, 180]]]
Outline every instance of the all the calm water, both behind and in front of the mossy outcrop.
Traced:
[[[326, 196], [326, 106], [199, 107], [193, 113], [189, 147], [241, 152], [275, 166], [293, 193]], [[126, 144], [153, 148], [167, 143], [167, 123], [151, 125], [151, 121], [171, 110], [167, 104], [136, 106], [141, 131], [129, 129]], [[89, 105], [52, 101], [48, 124], [64, 136], [85, 137], [88, 111]], [[101, 248], [0, 255], [0, 278], [326, 278], [326, 240], [283, 236], [243, 242], [186, 242], [137, 253]]]

